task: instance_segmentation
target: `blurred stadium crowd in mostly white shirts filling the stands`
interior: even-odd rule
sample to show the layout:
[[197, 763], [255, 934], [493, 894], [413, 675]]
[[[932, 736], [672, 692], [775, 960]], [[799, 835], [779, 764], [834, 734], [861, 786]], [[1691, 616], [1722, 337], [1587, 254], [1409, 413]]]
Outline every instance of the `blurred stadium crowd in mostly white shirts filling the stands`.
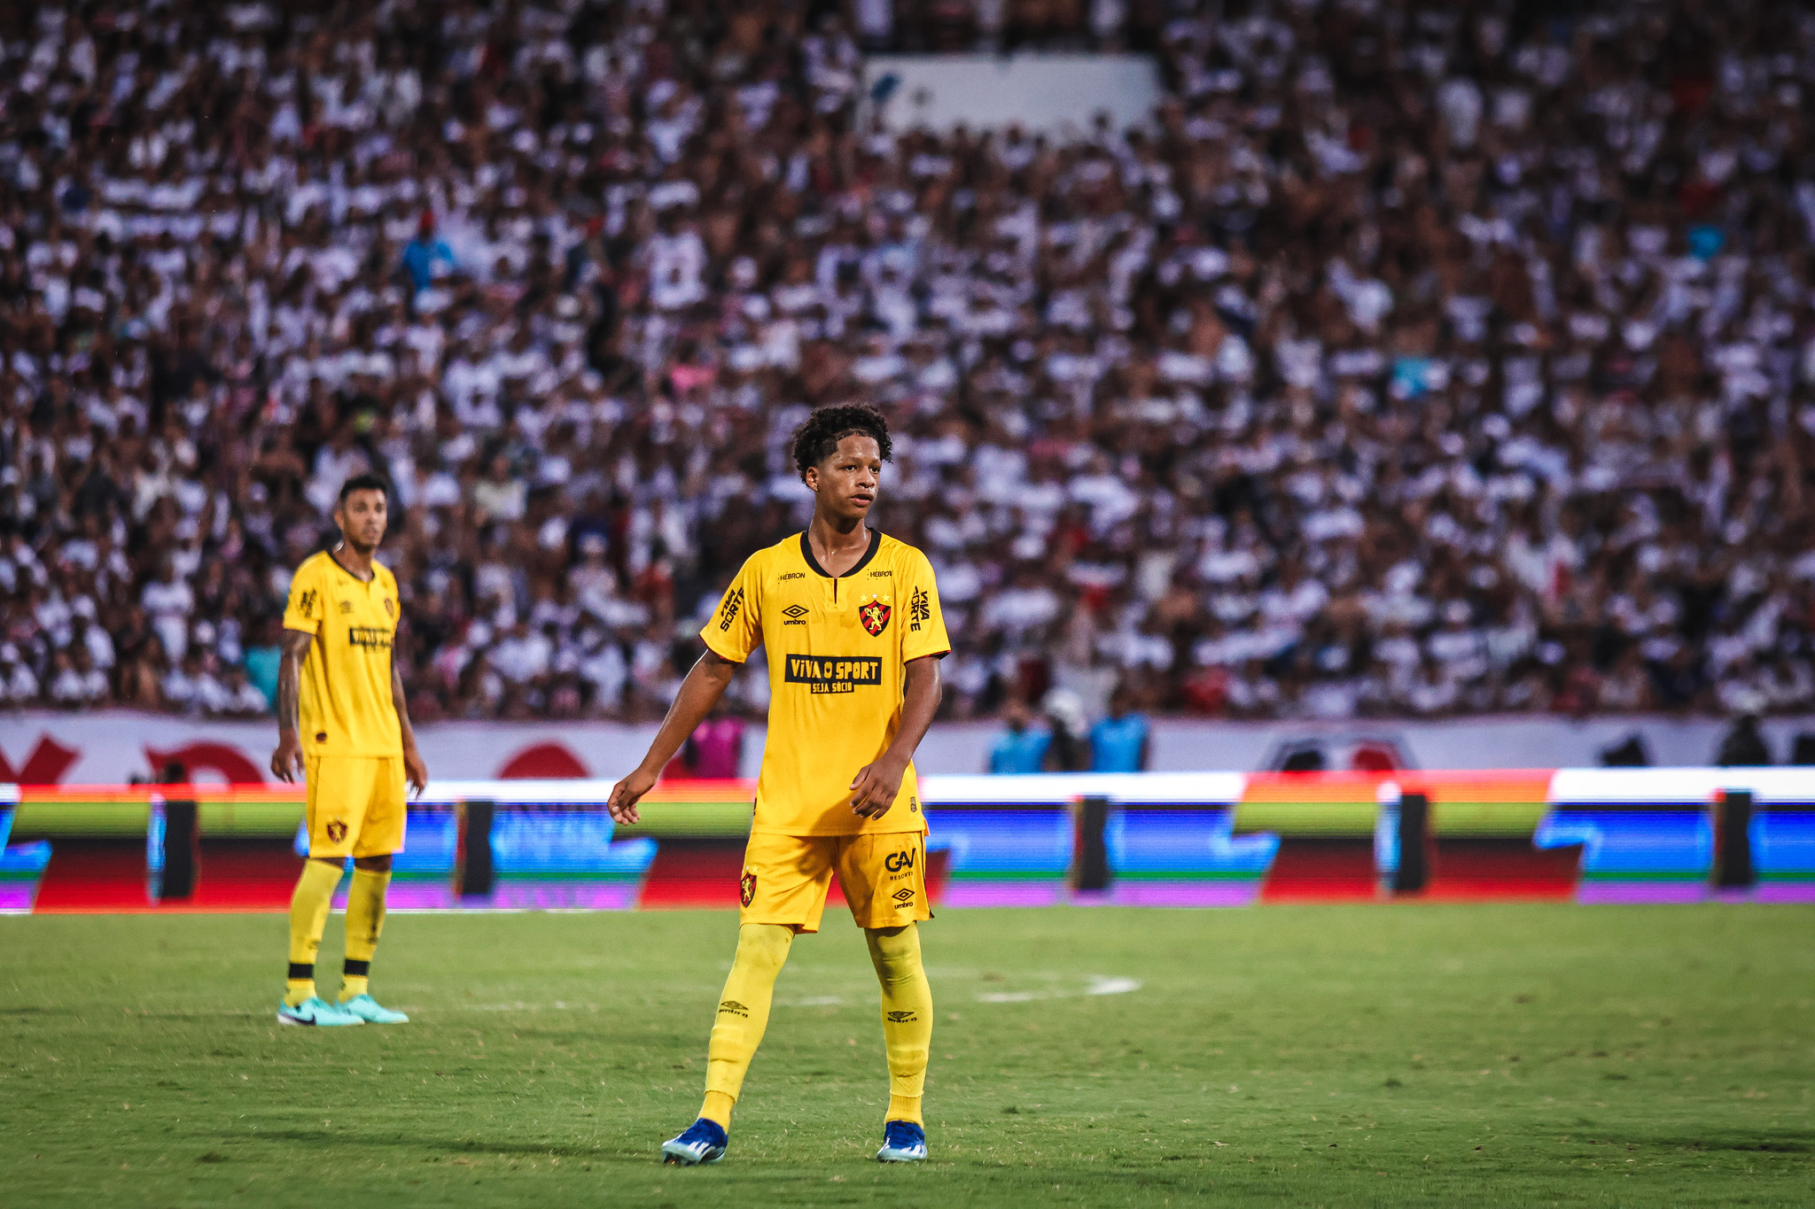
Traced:
[[[958, 716], [1810, 709], [1815, 16], [1535, 7], [11, 5], [0, 694], [263, 711], [370, 468], [419, 720], [646, 716], [869, 399]], [[1167, 102], [869, 120], [1011, 27]]]

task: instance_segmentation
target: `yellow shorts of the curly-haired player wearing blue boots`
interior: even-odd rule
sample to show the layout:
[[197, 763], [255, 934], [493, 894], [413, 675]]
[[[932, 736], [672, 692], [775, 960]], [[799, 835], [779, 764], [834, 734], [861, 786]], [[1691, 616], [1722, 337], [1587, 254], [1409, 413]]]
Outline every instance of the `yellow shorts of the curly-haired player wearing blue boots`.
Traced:
[[833, 870], [858, 928], [900, 928], [933, 917], [926, 901], [926, 836], [920, 832], [753, 832], [744, 848], [739, 923], [819, 932]]

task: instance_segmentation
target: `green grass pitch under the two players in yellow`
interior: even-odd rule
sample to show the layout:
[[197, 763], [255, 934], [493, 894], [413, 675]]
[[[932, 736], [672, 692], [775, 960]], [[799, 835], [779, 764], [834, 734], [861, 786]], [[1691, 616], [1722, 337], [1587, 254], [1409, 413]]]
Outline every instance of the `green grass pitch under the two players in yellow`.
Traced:
[[299, 1030], [281, 917], [0, 919], [0, 1204], [1815, 1202], [1815, 910], [947, 912], [918, 1167], [871, 1160], [875, 982], [828, 912], [730, 1156], [662, 1167], [733, 932], [394, 915], [414, 1022]]

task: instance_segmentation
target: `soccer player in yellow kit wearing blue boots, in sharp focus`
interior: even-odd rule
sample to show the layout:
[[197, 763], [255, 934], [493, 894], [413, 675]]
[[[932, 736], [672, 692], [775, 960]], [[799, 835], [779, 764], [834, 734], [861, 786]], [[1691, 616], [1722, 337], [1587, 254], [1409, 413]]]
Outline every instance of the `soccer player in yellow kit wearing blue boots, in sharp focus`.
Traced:
[[917, 923], [926, 901], [926, 816], [913, 752], [938, 711], [938, 660], [951, 651], [933, 567], [918, 549], [864, 524], [877, 502], [889, 430], [868, 406], [815, 411], [793, 439], [813, 491], [806, 533], [744, 562], [701, 638], [635, 772], [612, 787], [619, 823], [711, 711], [731, 672], [762, 645], [770, 734], [744, 854], [737, 957], [706, 1055], [706, 1102], [664, 1162], [724, 1156], [731, 1106], [770, 1019], [775, 975], [800, 932], [819, 932], [837, 870], [882, 981], [889, 1107], [877, 1158], [926, 1158], [920, 1097], [933, 995]]

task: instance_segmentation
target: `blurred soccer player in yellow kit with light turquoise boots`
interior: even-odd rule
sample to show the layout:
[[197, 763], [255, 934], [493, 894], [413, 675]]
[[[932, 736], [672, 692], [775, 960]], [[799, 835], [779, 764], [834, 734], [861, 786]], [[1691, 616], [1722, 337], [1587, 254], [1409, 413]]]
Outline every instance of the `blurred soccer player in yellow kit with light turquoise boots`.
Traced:
[[[421, 790], [428, 769], [403, 705], [392, 660], [397, 580], [374, 562], [385, 540], [387, 488], [356, 475], [339, 491], [341, 540], [290, 580], [278, 665], [278, 750], [270, 770], [309, 787], [309, 861], [290, 895], [290, 977], [280, 1024], [403, 1024], [367, 991], [385, 926], [390, 857], [403, 852], [405, 779]], [[316, 995], [316, 950], [334, 886], [352, 857], [347, 966], [339, 1002]]]

